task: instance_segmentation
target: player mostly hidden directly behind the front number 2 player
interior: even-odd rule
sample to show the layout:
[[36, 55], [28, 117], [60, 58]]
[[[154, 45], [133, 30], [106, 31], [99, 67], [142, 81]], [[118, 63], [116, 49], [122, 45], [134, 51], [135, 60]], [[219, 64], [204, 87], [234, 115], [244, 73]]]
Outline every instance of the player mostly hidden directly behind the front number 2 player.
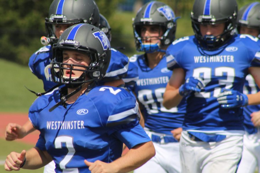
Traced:
[[[82, 12], [81, 12], [82, 11]], [[89, 23], [96, 27], [102, 27], [103, 16], [99, 17], [99, 9], [93, 0], [54, 0], [49, 9], [49, 18], [45, 19], [47, 35], [50, 43], [57, 42], [63, 31], [77, 23]], [[110, 33], [110, 32], [109, 32]], [[111, 39], [111, 37], [109, 37]], [[56, 86], [51, 80], [49, 64], [52, 56], [52, 47], [44, 46], [36, 51], [29, 59], [29, 68], [39, 79], [42, 80], [44, 90], [51, 90]], [[119, 86], [124, 84], [122, 77], [126, 76], [129, 59], [119, 51], [112, 50], [112, 59], [107, 73], [100, 84]], [[9, 123], [5, 131], [6, 140], [23, 138], [34, 131], [30, 121], [23, 126], [16, 123]], [[53, 172], [54, 162], [44, 167], [44, 173]]]

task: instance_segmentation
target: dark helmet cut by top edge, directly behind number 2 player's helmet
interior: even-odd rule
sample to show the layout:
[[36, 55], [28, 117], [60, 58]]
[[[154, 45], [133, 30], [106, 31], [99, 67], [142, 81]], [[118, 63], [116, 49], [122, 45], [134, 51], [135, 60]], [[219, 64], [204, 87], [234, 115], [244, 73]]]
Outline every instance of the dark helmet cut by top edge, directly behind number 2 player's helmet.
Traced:
[[45, 28], [51, 42], [57, 42], [55, 24], [88, 23], [99, 26], [99, 8], [93, 0], [54, 0], [45, 18]]

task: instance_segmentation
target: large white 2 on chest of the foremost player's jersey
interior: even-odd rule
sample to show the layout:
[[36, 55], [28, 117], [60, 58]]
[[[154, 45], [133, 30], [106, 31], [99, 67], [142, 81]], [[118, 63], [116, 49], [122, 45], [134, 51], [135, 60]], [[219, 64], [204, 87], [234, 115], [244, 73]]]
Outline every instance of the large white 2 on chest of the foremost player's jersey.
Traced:
[[60, 168], [62, 169], [62, 172], [72, 172], [72, 173], [79, 173], [78, 168], [66, 168], [65, 166], [69, 163], [69, 161], [72, 159], [75, 149], [73, 146], [73, 138], [71, 136], [58, 136], [55, 139], [54, 146], [57, 149], [62, 148], [62, 143], [65, 143], [66, 148], [68, 148], [67, 155], [60, 161]]

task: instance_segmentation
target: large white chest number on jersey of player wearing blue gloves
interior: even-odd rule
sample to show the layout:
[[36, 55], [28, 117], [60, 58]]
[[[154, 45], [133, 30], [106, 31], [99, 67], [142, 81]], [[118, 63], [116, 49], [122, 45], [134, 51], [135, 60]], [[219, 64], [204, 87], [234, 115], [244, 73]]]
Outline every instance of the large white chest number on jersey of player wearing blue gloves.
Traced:
[[[193, 77], [203, 78], [203, 82], [207, 85], [211, 81], [212, 69], [208, 67], [200, 67], [193, 70]], [[235, 79], [235, 69], [231, 67], [217, 67], [214, 70], [214, 77], [218, 78], [221, 76], [227, 76], [226, 79], [219, 79], [219, 85], [225, 85], [226, 89], [230, 89], [233, 86]], [[218, 97], [221, 92], [220, 87], [216, 87], [213, 92], [213, 97]], [[196, 97], [209, 98], [211, 97], [210, 92], [195, 93]]]

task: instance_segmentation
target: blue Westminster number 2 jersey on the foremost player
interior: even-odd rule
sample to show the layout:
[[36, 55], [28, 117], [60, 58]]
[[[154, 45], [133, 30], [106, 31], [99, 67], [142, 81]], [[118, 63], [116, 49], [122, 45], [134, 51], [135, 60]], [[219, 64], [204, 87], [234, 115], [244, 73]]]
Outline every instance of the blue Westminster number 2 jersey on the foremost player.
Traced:
[[124, 89], [96, 86], [67, 108], [49, 112], [59, 101], [54, 90], [29, 109], [29, 119], [40, 131], [36, 146], [52, 156], [56, 172], [90, 172], [84, 159], [109, 163], [121, 156], [123, 143], [132, 148], [150, 141], [139, 125], [135, 97]]

